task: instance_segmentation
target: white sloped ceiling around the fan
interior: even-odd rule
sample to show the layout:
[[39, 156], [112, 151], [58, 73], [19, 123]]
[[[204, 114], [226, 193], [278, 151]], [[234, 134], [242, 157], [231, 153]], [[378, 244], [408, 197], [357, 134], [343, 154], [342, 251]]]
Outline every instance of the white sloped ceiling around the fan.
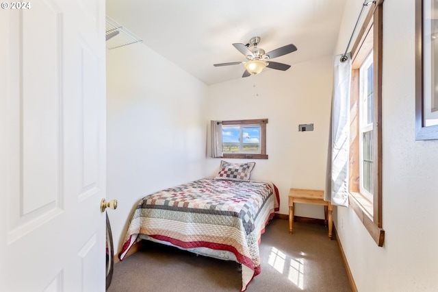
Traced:
[[[331, 55], [346, 0], [107, 0], [107, 16], [144, 45], [205, 84], [241, 78], [246, 61], [233, 42], [260, 36], [266, 52], [290, 43], [297, 51], [275, 58], [292, 65]], [[138, 45], [138, 44], [134, 44]], [[273, 69], [264, 69], [273, 70]], [[281, 74], [282, 71], [276, 71]], [[263, 73], [261, 73], [263, 74]]]

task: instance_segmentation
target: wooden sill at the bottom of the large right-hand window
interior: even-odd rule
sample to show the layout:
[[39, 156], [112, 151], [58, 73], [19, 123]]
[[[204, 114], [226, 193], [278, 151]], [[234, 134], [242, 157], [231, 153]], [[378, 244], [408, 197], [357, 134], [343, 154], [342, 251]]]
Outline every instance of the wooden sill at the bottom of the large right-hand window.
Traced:
[[372, 239], [376, 241], [379, 247], [383, 246], [385, 240], [385, 230], [376, 226], [372, 216], [372, 204], [368, 199], [365, 199], [360, 193], [350, 193], [349, 195], [350, 206], [355, 210], [357, 217], [363, 223], [366, 230], [370, 233]]

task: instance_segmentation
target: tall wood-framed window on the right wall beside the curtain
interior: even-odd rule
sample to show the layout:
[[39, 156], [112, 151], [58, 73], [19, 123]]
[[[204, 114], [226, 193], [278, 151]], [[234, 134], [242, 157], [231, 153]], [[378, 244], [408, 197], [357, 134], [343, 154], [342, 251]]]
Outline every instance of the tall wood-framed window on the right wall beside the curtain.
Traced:
[[383, 0], [376, 1], [352, 48], [350, 206], [378, 246], [382, 228]]

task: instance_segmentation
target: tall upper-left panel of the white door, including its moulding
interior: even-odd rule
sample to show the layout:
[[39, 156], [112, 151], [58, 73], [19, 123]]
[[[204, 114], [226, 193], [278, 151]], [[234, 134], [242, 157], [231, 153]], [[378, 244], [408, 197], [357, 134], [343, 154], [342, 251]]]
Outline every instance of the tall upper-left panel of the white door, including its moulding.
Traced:
[[[49, 1], [38, 6], [38, 14], [17, 13], [8, 44], [9, 78], [14, 80], [7, 118], [10, 242], [62, 208], [62, 14]], [[38, 15], [47, 21], [35, 28]], [[40, 74], [42, 68], [46, 73]]]

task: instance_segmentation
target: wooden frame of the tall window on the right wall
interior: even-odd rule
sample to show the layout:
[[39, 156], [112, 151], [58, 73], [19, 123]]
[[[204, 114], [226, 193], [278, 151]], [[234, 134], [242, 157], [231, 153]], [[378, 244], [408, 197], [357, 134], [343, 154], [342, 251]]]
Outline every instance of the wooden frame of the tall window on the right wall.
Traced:
[[[350, 93], [350, 195], [349, 202], [379, 247], [383, 246], [382, 228], [382, 55], [383, 0], [374, 2], [352, 47], [352, 82]], [[373, 165], [372, 202], [360, 191], [359, 158], [359, 68], [373, 53]]]

